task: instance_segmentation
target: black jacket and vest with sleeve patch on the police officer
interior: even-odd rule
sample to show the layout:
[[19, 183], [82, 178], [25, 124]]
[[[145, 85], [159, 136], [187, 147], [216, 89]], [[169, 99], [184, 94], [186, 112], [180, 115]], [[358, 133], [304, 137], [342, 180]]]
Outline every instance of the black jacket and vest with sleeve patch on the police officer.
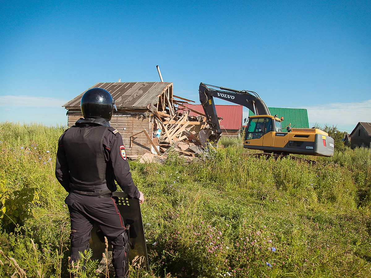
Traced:
[[[98, 128], [97, 128], [98, 127]], [[99, 128], [100, 127], [100, 128]], [[63, 145], [63, 139], [66, 135], [66, 132], [64, 132], [58, 141], [58, 151], [57, 151], [57, 160], [56, 160], [56, 169], [55, 169], [55, 175], [58, 179], [59, 183], [66, 189], [67, 192], [70, 192], [71, 190], [80, 193], [82, 195], [91, 195], [91, 196], [97, 196], [97, 195], [103, 195], [107, 192], [114, 192], [116, 191], [116, 186], [114, 184], [114, 180], [118, 183], [118, 185], [121, 187], [122, 191], [127, 193], [132, 198], [139, 199], [140, 194], [138, 191], [137, 186], [134, 185], [134, 182], [131, 177], [129, 163], [126, 158], [125, 154], [125, 146], [122, 142], [122, 137], [120, 133], [109, 126], [109, 122], [105, 119], [79, 119], [75, 126], [73, 126], [73, 129], [78, 128], [81, 129], [81, 132], [84, 134], [92, 134], [95, 133], [95, 130], [102, 130], [102, 127], [106, 127], [106, 131], [104, 132], [103, 138], [102, 138], [102, 144], [101, 144], [101, 150], [99, 150], [99, 153], [101, 153], [101, 157], [99, 158], [99, 155], [92, 156], [91, 153], [87, 153], [86, 156], [86, 165], [89, 165], [89, 159], [92, 157], [96, 157], [97, 164], [102, 164], [100, 162], [106, 163], [105, 165], [105, 174], [100, 171], [100, 173], [97, 173], [97, 169], [94, 169], [94, 167], [80, 167], [79, 171], [83, 172], [79, 177], [95, 177], [95, 178], [86, 178], [86, 181], [81, 181], [81, 179], [76, 179], [76, 173], [74, 171], [70, 171], [68, 161], [70, 161], [70, 164], [74, 164], [73, 160], [73, 152], [71, 153], [70, 149], [68, 149], [69, 158], [66, 157], [66, 149]], [[88, 138], [88, 137], [87, 137]], [[91, 142], [91, 140], [86, 139], [86, 141]], [[77, 147], [75, 147], [77, 148]], [[72, 158], [71, 158], [72, 156]], [[77, 153], [76, 153], [77, 157]], [[81, 157], [79, 157], [79, 161], [81, 162]], [[91, 163], [90, 163], [91, 165]], [[76, 165], [75, 165], [76, 166]], [[99, 166], [102, 167], [102, 166]], [[98, 167], [98, 168], [99, 168]], [[73, 169], [76, 169], [74, 167]], [[75, 171], [76, 172], [76, 171]], [[98, 171], [99, 172], [99, 171]], [[72, 176], [73, 175], [73, 176]], [[92, 182], [94, 179], [96, 179], [96, 184], [93, 184]], [[77, 182], [76, 182], [77, 181]], [[107, 186], [102, 186], [102, 181], [104, 184], [106, 183]], [[78, 186], [76, 186], [76, 183]], [[84, 189], [81, 185], [88, 185], [87, 190]], [[98, 186], [98, 190], [92, 190], [89, 188], [89, 185], [95, 185]], [[101, 187], [99, 187], [101, 186]]]

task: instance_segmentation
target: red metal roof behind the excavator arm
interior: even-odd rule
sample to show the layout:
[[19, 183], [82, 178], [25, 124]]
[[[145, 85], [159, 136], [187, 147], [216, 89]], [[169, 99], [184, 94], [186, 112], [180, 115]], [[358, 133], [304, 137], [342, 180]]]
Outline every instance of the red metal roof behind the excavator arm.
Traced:
[[[185, 106], [205, 114], [202, 105], [186, 104]], [[242, 105], [215, 105], [216, 113], [220, 121], [220, 129], [241, 129], [242, 126]], [[182, 109], [180, 109], [182, 110]], [[197, 113], [190, 112], [190, 116], [200, 116]]]

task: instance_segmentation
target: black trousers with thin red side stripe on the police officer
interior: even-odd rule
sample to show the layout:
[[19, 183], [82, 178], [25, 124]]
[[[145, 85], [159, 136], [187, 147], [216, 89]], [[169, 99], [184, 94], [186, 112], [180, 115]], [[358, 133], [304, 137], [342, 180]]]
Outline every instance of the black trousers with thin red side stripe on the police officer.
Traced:
[[116, 277], [125, 277], [125, 248], [115, 249], [115, 246], [124, 246], [121, 234], [125, 232], [124, 220], [111, 197], [85, 196], [69, 193], [65, 199], [71, 219], [71, 255], [70, 262], [79, 260], [78, 252], [89, 248], [89, 239], [93, 224], [96, 224], [103, 234], [114, 245], [112, 264]]

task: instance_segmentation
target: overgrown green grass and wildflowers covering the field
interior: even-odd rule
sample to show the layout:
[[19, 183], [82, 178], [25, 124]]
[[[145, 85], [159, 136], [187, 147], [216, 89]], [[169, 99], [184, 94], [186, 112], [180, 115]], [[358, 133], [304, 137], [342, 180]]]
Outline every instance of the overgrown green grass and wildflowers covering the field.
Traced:
[[[69, 277], [63, 130], [0, 124], [0, 277]], [[130, 277], [371, 277], [370, 150], [308, 163], [222, 145], [191, 163], [130, 162], [150, 258]]]

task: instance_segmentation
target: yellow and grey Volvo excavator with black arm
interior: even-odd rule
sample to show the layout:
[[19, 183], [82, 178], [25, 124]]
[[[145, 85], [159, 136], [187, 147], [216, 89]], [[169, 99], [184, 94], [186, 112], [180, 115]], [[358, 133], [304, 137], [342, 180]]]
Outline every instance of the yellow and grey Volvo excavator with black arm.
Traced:
[[283, 118], [272, 116], [263, 100], [256, 92], [234, 90], [200, 83], [198, 90], [206, 122], [211, 128], [210, 141], [217, 143], [221, 136], [219, 118], [216, 113], [214, 97], [233, 102], [254, 112], [243, 138], [243, 147], [263, 150], [265, 153], [279, 155], [302, 154], [315, 156], [333, 156], [334, 139], [328, 133], [316, 128], [291, 128], [282, 130]]

